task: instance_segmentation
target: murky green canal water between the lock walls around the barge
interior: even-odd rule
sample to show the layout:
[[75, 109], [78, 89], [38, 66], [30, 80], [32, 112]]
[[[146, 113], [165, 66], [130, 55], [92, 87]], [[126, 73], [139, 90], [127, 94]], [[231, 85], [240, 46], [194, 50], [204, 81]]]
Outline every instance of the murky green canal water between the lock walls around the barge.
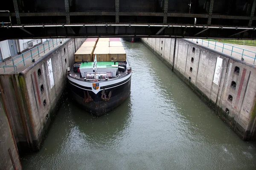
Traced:
[[256, 144], [242, 141], [142, 43], [122, 42], [131, 95], [101, 117], [69, 98], [23, 170], [255, 170]]

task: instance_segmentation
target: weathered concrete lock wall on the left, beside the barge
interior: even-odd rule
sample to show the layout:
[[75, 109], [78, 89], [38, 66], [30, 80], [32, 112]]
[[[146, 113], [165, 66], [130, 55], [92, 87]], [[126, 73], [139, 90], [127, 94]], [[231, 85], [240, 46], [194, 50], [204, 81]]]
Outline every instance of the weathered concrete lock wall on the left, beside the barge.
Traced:
[[67, 40], [21, 73], [0, 75], [1, 96], [20, 154], [40, 149], [61, 104], [67, 67], [73, 65], [74, 53], [85, 40]]

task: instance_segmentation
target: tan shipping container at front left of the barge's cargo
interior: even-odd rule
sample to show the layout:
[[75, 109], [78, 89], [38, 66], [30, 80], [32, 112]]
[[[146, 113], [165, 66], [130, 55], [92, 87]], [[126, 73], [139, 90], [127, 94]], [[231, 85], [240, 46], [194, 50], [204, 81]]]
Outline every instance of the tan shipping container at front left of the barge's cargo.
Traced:
[[85, 61], [93, 61], [93, 47], [82, 47], [79, 48], [74, 54], [75, 62], [82, 62], [82, 59]]

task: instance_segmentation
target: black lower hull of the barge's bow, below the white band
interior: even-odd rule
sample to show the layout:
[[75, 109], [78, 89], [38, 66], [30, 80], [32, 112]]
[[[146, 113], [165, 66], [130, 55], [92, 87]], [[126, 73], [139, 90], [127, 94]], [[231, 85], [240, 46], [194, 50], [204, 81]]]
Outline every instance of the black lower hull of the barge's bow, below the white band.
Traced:
[[[81, 88], [74, 86], [72, 83], [68, 81], [68, 89], [71, 98], [78, 105], [81, 105], [87, 112], [95, 115], [102, 116], [109, 111], [112, 111], [117, 106], [121, 105], [125, 99], [128, 98], [131, 92], [131, 77], [127, 82], [122, 85], [109, 88], [105, 90], [105, 94], [108, 97], [111, 92], [111, 97], [109, 101], [104, 101], [102, 99], [102, 91], [99, 91], [97, 94], [93, 93], [93, 91], [87, 91]], [[89, 94], [89, 95], [88, 95]], [[85, 102], [86, 98], [90, 98], [93, 100], [91, 102]]]

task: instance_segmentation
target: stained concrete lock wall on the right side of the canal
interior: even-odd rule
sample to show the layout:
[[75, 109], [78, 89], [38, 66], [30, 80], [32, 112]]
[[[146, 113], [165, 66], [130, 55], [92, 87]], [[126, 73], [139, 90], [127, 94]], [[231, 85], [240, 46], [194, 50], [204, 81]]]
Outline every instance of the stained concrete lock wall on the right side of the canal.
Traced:
[[[142, 38], [243, 140], [256, 139], [256, 67], [185, 39]], [[175, 57], [174, 57], [175, 49]], [[193, 59], [192, 59], [193, 58]], [[174, 60], [174, 62], [173, 62]], [[239, 67], [239, 73], [235, 73]], [[236, 88], [231, 87], [236, 82]], [[232, 101], [229, 98], [232, 96]]]

